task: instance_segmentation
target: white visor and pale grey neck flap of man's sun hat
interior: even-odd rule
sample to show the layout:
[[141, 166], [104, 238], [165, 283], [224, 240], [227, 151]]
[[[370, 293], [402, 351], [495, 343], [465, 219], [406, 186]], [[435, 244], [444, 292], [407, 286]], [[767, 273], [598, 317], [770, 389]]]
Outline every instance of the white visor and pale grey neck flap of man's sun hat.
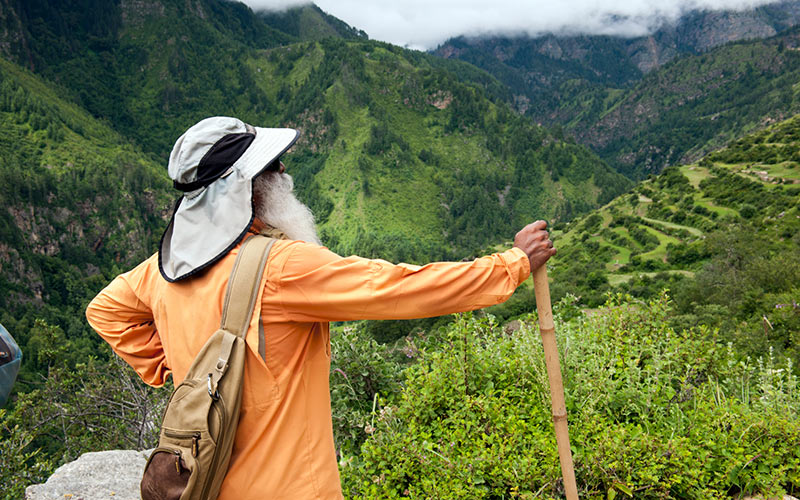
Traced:
[[294, 145], [294, 129], [256, 127], [256, 138], [230, 173], [187, 193], [161, 237], [158, 267], [169, 282], [193, 276], [231, 251], [253, 224], [253, 179]]

